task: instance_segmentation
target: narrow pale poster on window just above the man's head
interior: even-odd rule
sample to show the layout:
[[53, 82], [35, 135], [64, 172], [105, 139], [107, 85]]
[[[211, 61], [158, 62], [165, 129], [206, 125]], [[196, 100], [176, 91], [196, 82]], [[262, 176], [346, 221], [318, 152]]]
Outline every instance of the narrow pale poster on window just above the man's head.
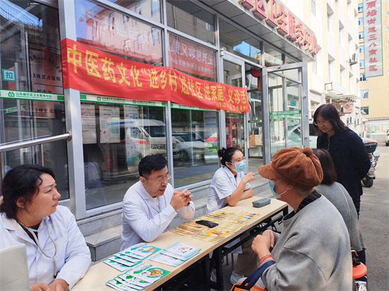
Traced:
[[[139, 143], [138, 143], [138, 127], [134, 126], [134, 120], [138, 119], [138, 107], [134, 105], [124, 106], [124, 130], [126, 133], [126, 153], [127, 162], [140, 160]], [[136, 121], [135, 121], [136, 122]]]

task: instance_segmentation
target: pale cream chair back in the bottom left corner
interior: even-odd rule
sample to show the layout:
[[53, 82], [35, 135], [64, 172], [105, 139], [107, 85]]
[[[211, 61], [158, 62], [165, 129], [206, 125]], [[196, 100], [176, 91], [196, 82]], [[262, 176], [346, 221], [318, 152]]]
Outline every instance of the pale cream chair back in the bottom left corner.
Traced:
[[18, 244], [0, 251], [0, 290], [30, 290], [27, 253], [24, 244]]

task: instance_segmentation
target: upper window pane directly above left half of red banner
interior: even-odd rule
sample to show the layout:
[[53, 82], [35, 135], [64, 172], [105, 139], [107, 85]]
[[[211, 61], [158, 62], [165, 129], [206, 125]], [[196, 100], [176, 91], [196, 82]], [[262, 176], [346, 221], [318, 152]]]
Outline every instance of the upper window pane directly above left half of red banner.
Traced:
[[[151, 0], [128, 2], [139, 14], [151, 11]], [[159, 3], [159, 1], [158, 1]], [[147, 5], [146, 5], [147, 4]], [[91, 1], [74, 1], [77, 41], [126, 59], [162, 66], [162, 31]], [[123, 6], [123, 5], [122, 5]], [[139, 10], [140, 9], [140, 10]]]

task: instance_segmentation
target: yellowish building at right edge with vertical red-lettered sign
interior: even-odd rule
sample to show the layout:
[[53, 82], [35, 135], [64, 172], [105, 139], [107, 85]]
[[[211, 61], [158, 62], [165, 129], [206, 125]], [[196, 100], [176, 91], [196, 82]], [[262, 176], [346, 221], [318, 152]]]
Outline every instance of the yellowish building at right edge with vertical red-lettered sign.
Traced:
[[358, 1], [358, 19], [364, 135], [385, 141], [389, 129], [389, 2]]

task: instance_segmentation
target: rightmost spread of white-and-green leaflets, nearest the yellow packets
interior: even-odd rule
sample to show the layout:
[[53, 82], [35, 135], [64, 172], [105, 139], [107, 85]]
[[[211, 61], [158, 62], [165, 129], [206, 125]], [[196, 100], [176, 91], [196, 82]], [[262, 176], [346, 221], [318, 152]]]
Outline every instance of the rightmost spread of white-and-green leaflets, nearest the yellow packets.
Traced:
[[199, 247], [192, 247], [188, 244], [176, 242], [175, 244], [161, 251], [161, 253], [151, 257], [149, 260], [163, 263], [168, 266], [177, 267], [193, 256], [199, 254], [200, 249], [201, 248]]

